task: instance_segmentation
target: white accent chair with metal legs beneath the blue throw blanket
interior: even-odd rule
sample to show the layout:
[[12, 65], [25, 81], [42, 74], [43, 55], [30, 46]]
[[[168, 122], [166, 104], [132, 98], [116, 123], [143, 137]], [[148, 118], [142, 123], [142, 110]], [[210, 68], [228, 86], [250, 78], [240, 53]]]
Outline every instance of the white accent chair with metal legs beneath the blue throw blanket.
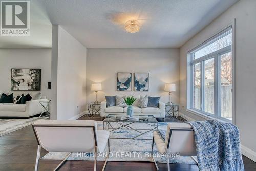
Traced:
[[[165, 141], [159, 134], [153, 132], [152, 154], [154, 142], [160, 153], [167, 156], [167, 168], [170, 170], [170, 154], [179, 154], [180, 156], [190, 156], [198, 165], [197, 160], [193, 157], [197, 155], [194, 130], [187, 123], [169, 123], [167, 126]], [[169, 155], [168, 155], [169, 154]], [[152, 155], [156, 169], [159, 170], [157, 163]]]

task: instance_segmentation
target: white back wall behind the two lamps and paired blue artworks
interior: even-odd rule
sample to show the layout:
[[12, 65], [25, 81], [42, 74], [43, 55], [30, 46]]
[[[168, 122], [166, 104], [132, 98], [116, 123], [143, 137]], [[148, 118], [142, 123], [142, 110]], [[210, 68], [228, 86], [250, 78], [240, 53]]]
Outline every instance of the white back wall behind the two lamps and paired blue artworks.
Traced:
[[[116, 91], [117, 72], [149, 72], [149, 91], [132, 92]], [[164, 91], [165, 83], [176, 83], [177, 91], [172, 95], [172, 101], [178, 102], [179, 80], [179, 49], [88, 49], [87, 50], [87, 103], [95, 100], [91, 91], [91, 83], [102, 83], [102, 91], [98, 92], [98, 101], [105, 100], [105, 95], [160, 95], [162, 101], [168, 102], [168, 92]]]

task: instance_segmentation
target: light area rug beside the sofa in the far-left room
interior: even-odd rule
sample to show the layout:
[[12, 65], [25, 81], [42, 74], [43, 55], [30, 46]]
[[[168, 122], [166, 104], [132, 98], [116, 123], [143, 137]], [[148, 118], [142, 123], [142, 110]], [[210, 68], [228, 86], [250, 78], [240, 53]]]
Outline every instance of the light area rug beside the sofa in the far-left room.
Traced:
[[29, 119], [0, 119], [0, 136], [22, 129], [23, 127], [32, 125], [38, 119], [49, 119], [49, 118], [34, 117]]

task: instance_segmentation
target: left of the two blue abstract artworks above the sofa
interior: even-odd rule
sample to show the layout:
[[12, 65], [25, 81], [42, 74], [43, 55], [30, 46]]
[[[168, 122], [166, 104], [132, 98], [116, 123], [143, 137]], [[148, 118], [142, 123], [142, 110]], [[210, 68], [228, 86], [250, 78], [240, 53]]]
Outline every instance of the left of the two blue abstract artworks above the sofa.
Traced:
[[132, 91], [132, 73], [117, 73], [117, 91]]

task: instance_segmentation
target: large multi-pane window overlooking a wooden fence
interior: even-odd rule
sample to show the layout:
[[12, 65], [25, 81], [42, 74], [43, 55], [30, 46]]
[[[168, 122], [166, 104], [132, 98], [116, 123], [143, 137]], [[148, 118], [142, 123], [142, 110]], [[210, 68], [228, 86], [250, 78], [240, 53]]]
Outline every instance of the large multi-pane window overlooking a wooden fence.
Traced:
[[189, 109], [232, 120], [231, 47], [232, 28], [229, 27], [188, 54]]

